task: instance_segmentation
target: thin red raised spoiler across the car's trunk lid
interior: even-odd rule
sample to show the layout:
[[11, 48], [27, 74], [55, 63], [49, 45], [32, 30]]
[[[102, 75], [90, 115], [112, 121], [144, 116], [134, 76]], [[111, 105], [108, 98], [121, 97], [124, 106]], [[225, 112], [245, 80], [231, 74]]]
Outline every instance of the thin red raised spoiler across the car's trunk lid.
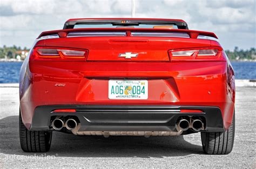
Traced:
[[[205, 32], [198, 30], [187, 30], [187, 29], [152, 29], [152, 28], [77, 28], [77, 29], [62, 29], [62, 30], [53, 30], [42, 32], [38, 38], [49, 35], [59, 35], [59, 37], [66, 37], [70, 32], [83, 32], [83, 31], [136, 31], [136, 32], [183, 32], [187, 33], [190, 38], [197, 38], [198, 35], [209, 36], [218, 39], [218, 37], [213, 32]], [[130, 34], [130, 33], [127, 33]], [[37, 39], [38, 39], [37, 38]]]

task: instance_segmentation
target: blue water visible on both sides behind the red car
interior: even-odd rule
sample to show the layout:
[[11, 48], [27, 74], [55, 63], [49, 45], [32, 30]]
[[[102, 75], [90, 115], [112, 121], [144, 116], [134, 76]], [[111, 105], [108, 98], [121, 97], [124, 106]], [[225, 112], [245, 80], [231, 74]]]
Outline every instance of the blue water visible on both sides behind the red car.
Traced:
[[[256, 79], [256, 62], [231, 62], [235, 79]], [[0, 62], [0, 83], [18, 83], [22, 62]]]

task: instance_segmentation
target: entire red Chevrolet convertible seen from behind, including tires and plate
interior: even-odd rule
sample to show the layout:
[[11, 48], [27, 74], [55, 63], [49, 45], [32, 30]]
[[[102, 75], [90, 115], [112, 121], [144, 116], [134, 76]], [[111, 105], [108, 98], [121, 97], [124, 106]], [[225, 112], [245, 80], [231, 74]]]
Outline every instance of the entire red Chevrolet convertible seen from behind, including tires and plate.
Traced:
[[76, 135], [201, 133], [207, 154], [234, 142], [234, 71], [212, 32], [178, 19], [69, 19], [36, 39], [21, 68], [22, 150], [52, 131]]

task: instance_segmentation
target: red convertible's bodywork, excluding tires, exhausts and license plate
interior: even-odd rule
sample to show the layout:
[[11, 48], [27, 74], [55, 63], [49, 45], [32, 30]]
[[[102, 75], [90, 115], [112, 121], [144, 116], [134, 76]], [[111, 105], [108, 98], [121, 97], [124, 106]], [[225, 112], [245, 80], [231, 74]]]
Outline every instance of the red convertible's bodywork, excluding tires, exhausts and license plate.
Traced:
[[[121, 28], [70, 28], [74, 23], [92, 20], [93, 23], [114, 21], [120, 22], [120, 25], [126, 22], [127, 25], [125, 23]], [[133, 22], [141, 21], [177, 22], [178, 25], [183, 24], [184, 28], [130, 26]], [[116, 36], [116, 32], [123, 33], [123, 36]], [[56, 55], [63, 55], [66, 50], [77, 50], [82, 51], [84, 56], [39, 56], [44, 49], [61, 51], [62, 54]], [[188, 57], [173, 55], [176, 51], [180, 53], [184, 50], [199, 53], [202, 50], [203, 54], [199, 56], [199, 53], [193, 53], [195, 56]], [[204, 56], [207, 50], [217, 53], [214, 56]], [[118, 57], [122, 53], [128, 58]], [[138, 55], [129, 58], [129, 53]], [[109, 98], [109, 80], [138, 79], [147, 80], [147, 99]], [[19, 92], [22, 122], [29, 131], [53, 130], [53, 116], [76, 116], [87, 112], [87, 109], [100, 109], [106, 114], [94, 116], [90, 112], [81, 116], [86, 118], [86, 123], [94, 124], [81, 124], [79, 130], [174, 132], [176, 123], [170, 124], [173, 127], [166, 125], [173, 123], [170, 119], [174, 116], [149, 113], [144, 118], [143, 111], [138, 112], [147, 110], [146, 107], [153, 107], [152, 112], [171, 107], [170, 110], [178, 111], [178, 116], [203, 114], [202, 131], [225, 132], [232, 123], [235, 100], [234, 72], [214, 33], [188, 30], [184, 21], [174, 19], [70, 19], [63, 30], [43, 32], [37, 38], [29, 57], [22, 65]], [[138, 110], [136, 107], [139, 107]], [[115, 111], [111, 112], [112, 109], [122, 109], [121, 112], [118, 111], [119, 115], [123, 110], [127, 110], [127, 113], [130, 112], [129, 109], [136, 109], [136, 113], [133, 112], [136, 116], [124, 113], [123, 117], [116, 117], [113, 113]], [[216, 115], [218, 112], [214, 114], [214, 111], [218, 111], [219, 115]], [[77, 120], [82, 123], [80, 117]], [[177, 119], [173, 120], [176, 122]], [[158, 124], [161, 127], [156, 127]], [[183, 134], [193, 132], [195, 131], [184, 131]]]

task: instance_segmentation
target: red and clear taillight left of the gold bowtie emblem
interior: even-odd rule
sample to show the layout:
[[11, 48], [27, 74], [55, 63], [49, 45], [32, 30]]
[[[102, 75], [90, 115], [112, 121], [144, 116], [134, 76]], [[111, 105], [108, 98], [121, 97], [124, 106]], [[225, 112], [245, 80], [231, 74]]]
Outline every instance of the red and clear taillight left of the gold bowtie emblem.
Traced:
[[36, 47], [33, 49], [30, 60], [86, 60], [87, 50]]

